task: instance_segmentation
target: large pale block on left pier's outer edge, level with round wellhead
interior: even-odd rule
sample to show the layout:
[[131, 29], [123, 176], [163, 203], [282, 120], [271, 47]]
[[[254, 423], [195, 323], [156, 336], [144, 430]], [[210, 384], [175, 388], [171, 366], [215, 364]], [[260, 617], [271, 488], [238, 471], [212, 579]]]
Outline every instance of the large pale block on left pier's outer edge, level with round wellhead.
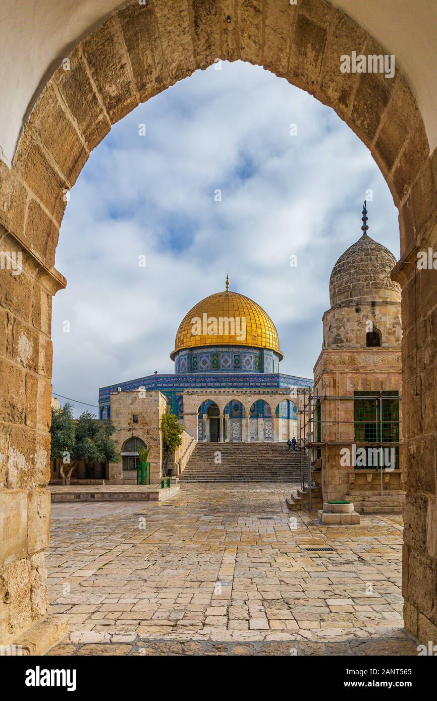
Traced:
[[27, 492], [0, 491], [0, 566], [27, 557]]

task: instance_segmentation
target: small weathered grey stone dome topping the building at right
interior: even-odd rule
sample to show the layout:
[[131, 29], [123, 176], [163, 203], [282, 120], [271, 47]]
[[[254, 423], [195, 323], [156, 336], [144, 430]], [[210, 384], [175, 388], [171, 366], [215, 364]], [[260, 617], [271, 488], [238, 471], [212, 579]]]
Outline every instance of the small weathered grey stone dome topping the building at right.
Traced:
[[401, 301], [401, 287], [391, 280], [396, 258], [367, 233], [351, 245], [332, 268], [331, 307], [342, 301]]

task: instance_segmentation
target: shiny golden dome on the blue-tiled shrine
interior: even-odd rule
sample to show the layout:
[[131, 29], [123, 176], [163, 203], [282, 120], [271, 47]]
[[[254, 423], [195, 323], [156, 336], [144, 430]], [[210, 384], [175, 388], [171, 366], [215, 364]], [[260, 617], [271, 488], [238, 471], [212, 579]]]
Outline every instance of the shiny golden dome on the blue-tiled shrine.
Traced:
[[[220, 320], [223, 320], [221, 324]], [[234, 328], [227, 320], [234, 320]], [[170, 358], [174, 360], [182, 348], [205, 346], [269, 348], [278, 353], [280, 360], [283, 358], [278, 332], [269, 315], [252, 299], [229, 290], [210, 294], [190, 309], [177, 329], [175, 350]]]

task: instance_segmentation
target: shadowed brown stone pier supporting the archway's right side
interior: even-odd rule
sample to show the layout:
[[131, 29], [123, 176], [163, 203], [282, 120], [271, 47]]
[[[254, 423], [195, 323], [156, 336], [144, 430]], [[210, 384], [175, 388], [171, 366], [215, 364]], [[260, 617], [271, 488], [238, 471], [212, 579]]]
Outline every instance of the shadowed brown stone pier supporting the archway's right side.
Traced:
[[437, 250], [436, 186], [434, 156], [413, 188], [412, 202], [405, 203], [414, 212], [416, 248], [394, 273], [403, 285], [404, 621], [421, 642], [433, 644], [437, 641], [437, 272], [418, 270], [416, 261], [417, 250]]

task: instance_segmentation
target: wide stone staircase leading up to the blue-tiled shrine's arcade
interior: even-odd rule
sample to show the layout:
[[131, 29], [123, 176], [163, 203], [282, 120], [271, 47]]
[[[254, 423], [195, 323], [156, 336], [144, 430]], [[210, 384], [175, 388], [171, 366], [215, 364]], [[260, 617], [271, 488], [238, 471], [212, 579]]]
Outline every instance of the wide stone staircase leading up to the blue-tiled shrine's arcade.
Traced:
[[300, 482], [301, 456], [286, 443], [198, 443], [180, 482]]

